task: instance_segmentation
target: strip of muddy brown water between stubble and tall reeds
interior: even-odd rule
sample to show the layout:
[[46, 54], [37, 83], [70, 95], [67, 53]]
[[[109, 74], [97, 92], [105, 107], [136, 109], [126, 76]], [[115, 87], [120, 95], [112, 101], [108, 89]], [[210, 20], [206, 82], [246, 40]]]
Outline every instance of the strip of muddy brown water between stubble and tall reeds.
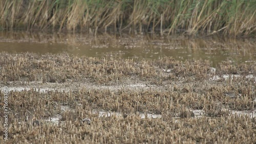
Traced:
[[215, 66], [221, 61], [255, 62], [256, 40], [218, 36], [184, 37], [159, 35], [47, 34], [1, 32], [0, 52], [39, 54], [67, 52], [88, 57], [157, 59], [171, 56], [177, 60], [203, 59]]

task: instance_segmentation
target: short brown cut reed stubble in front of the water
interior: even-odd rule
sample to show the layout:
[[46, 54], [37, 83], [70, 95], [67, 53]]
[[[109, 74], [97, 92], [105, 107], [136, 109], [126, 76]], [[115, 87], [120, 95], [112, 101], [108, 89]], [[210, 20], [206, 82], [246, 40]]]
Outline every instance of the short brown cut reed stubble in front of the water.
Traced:
[[[231, 110], [255, 111], [255, 63], [222, 62], [212, 71], [210, 63], [202, 60], [32, 53], [1, 53], [0, 62], [1, 87], [31, 87], [9, 92], [7, 143], [253, 143], [256, 140], [256, 118], [231, 113]], [[231, 77], [234, 74], [240, 77]], [[217, 75], [229, 78], [211, 80]], [[136, 83], [144, 86], [129, 87]], [[40, 88], [52, 84], [56, 84], [55, 90], [40, 92]], [[58, 90], [61, 88], [69, 91]], [[230, 91], [236, 97], [225, 94]], [[63, 110], [62, 106], [68, 109]], [[122, 115], [99, 117], [94, 110]], [[204, 114], [198, 117], [193, 110], [203, 110]], [[161, 117], [141, 118], [139, 113], [161, 114]], [[57, 124], [46, 121], [56, 115], [61, 117]], [[90, 118], [90, 123], [83, 122], [83, 118]], [[4, 123], [3, 118], [0, 122]]]

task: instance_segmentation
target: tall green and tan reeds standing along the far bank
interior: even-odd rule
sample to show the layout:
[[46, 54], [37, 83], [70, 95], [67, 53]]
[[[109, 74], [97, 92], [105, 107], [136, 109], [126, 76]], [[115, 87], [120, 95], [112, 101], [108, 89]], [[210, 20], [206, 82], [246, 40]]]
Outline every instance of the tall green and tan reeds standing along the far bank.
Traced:
[[3, 30], [252, 36], [254, 1], [1, 1]]

